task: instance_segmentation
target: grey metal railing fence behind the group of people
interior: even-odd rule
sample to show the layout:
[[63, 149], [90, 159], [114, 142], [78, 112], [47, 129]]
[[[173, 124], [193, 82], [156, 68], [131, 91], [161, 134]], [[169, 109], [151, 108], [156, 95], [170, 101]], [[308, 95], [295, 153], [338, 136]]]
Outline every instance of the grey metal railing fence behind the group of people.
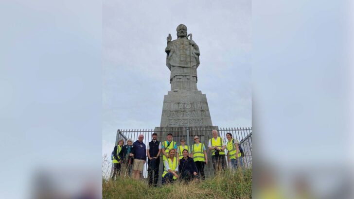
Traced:
[[[201, 143], [204, 143], [207, 148], [208, 154], [208, 164], [205, 166], [205, 177], [208, 178], [213, 176], [213, 167], [212, 167], [212, 153], [208, 150], [209, 139], [212, 138], [212, 128], [188, 128], [188, 127], [175, 127], [175, 128], [159, 128], [159, 129], [134, 129], [134, 130], [119, 130], [117, 131], [116, 144], [118, 140], [123, 139], [124, 145], [127, 144], [128, 139], [132, 139], [133, 142], [138, 140], [140, 134], [144, 135], [143, 143], [147, 145], [152, 139], [152, 133], [158, 133], [158, 140], [165, 141], [167, 133], [174, 134], [173, 140], [177, 142], [177, 146], [180, 145], [180, 139], [185, 139], [186, 145], [192, 146], [194, 144], [194, 136], [198, 135]], [[243, 162], [245, 167], [252, 166], [252, 128], [219, 128], [218, 136], [224, 139], [225, 145], [228, 140], [226, 139], [226, 133], [231, 133], [233, 138], [236, 138], [239, 141], [240, 146], [244, 150], [245, 156], [243, 157]], [[113, 148], [113, 146], [112, 146]], [[225, 150], [226, 154], [227, 150]], [[162, 152], [161, 152], [162, 155]], [[162, 158], [160, 158], [162, 161]], [[229, 166], [229, 162], [227, 165]], [[162, 174], [162, 163], [160, 163], [160, 172]], [[142, 176], [147, 178], [147, 161], [144, 165]]]

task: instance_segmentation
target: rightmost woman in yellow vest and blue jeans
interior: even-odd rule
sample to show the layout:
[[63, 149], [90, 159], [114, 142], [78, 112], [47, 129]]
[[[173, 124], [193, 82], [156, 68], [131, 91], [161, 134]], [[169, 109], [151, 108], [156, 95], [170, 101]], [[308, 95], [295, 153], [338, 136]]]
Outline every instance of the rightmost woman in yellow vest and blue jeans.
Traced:
[[232, 169], [237, 169], [238, 163], [243, 167], [243, 159], [241, 157], [241, 152], [238, 148], [237, 139], [232, 139], [231, 133], [226, 133], [226, 138], [228, 139], [227, 149], [228, 149], [228, 161], [231, 163]]

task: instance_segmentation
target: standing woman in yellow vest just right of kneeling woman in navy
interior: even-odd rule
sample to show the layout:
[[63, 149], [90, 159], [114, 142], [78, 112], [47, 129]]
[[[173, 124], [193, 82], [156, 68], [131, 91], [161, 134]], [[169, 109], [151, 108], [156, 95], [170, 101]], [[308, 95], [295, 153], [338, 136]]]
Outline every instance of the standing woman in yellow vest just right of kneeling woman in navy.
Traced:
[[201, 176], [201, 179], [205, 179], [204, 166], [208, 164], [208, 155], [205, 145], [200, 143], [199, 137], [194, 136], [194, 145], [192, 145], [191, 158], [195, 162], [195, 166], [198, 170], [197, 173]]

